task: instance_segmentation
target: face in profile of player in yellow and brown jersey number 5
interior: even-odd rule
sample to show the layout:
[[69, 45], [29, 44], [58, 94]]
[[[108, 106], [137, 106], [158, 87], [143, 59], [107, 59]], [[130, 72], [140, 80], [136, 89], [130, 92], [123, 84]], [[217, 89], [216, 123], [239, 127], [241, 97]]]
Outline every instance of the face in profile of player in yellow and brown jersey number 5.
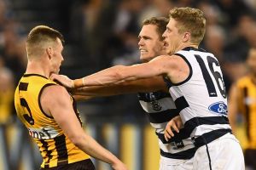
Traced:
[[62, 56], [63, 46], [61, 40], [58, 38], [56, 46], [53, 50], [53, 57], [52, 57], [52, 73], [58, 74], [60, 71], [61, 63], [64, 60]]

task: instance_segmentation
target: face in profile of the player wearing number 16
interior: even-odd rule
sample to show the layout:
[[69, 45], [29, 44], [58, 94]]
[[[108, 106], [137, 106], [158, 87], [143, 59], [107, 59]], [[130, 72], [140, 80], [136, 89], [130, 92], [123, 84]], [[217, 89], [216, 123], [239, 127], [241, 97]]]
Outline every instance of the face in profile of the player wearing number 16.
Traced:
[[172, 18], [166, 26], [166, 31], [163, 34], [166, 42], [166, 53], [174, 54], [177, 52], [181, 42], [183, 41], [183, 34], [180, 34], [177, 29], [177, 21]]

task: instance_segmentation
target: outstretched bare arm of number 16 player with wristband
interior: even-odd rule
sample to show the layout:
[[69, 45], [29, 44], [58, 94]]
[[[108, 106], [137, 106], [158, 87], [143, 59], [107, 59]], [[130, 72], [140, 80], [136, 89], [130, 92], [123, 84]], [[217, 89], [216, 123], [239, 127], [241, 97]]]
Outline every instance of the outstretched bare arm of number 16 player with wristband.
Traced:
[[108, 86], [156, 76], [167, 76], [172, 82], [181, 82], [184, 77], [188, 77], [188, 71], [189, 66], [180, 57], [163, 55], [148, 63], [131, 66], [117, 65], [88, 77], [76, 79], [74, 87]]

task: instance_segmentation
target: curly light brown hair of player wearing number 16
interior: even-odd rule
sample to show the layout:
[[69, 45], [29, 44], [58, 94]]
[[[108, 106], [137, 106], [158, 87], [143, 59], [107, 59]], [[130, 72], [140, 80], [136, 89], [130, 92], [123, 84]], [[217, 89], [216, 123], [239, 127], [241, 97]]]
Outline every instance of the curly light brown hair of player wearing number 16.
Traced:
[[170, 19], [177, 20], [179, 33], [189, 31], [191, 42], [200, 43], [206, 32], [206, 18], [198, 8], [173, 8], [170, 10]]

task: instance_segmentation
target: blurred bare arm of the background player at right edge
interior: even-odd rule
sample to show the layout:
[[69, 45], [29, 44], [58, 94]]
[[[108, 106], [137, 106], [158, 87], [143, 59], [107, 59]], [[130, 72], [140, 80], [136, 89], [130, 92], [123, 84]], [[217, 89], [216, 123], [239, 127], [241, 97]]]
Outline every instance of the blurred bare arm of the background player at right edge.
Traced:
[[236, 118], [239, 112], [239, 108], [238, 108], [238, 92], [236, 89], [236, 83], [234, 83], [232, 85], [232, 87], [230, 88], [230, 98], [228, 100], [229, 102], [229, 112], [228, 112], [228, 116], [229, 116], [229, 120], [230, 120], [230, 126], [232, 127], [232, 131], [234, 134], [236, 134]]

